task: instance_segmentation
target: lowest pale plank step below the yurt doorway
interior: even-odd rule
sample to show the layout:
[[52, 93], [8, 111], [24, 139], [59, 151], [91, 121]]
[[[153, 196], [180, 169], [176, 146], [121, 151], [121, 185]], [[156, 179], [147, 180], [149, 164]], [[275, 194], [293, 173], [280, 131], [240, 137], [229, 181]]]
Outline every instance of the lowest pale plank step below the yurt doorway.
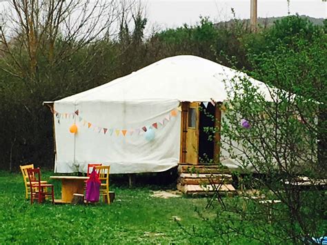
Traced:
[[234, 186], [231, 184], [223, 184], [223, 185], [181, 185], [177, 184], [177, 189], [185, 194], [192, 194], [192, 193], [213, 193], [215, 188], [218, 188], [219, 192], [236, 192]]

